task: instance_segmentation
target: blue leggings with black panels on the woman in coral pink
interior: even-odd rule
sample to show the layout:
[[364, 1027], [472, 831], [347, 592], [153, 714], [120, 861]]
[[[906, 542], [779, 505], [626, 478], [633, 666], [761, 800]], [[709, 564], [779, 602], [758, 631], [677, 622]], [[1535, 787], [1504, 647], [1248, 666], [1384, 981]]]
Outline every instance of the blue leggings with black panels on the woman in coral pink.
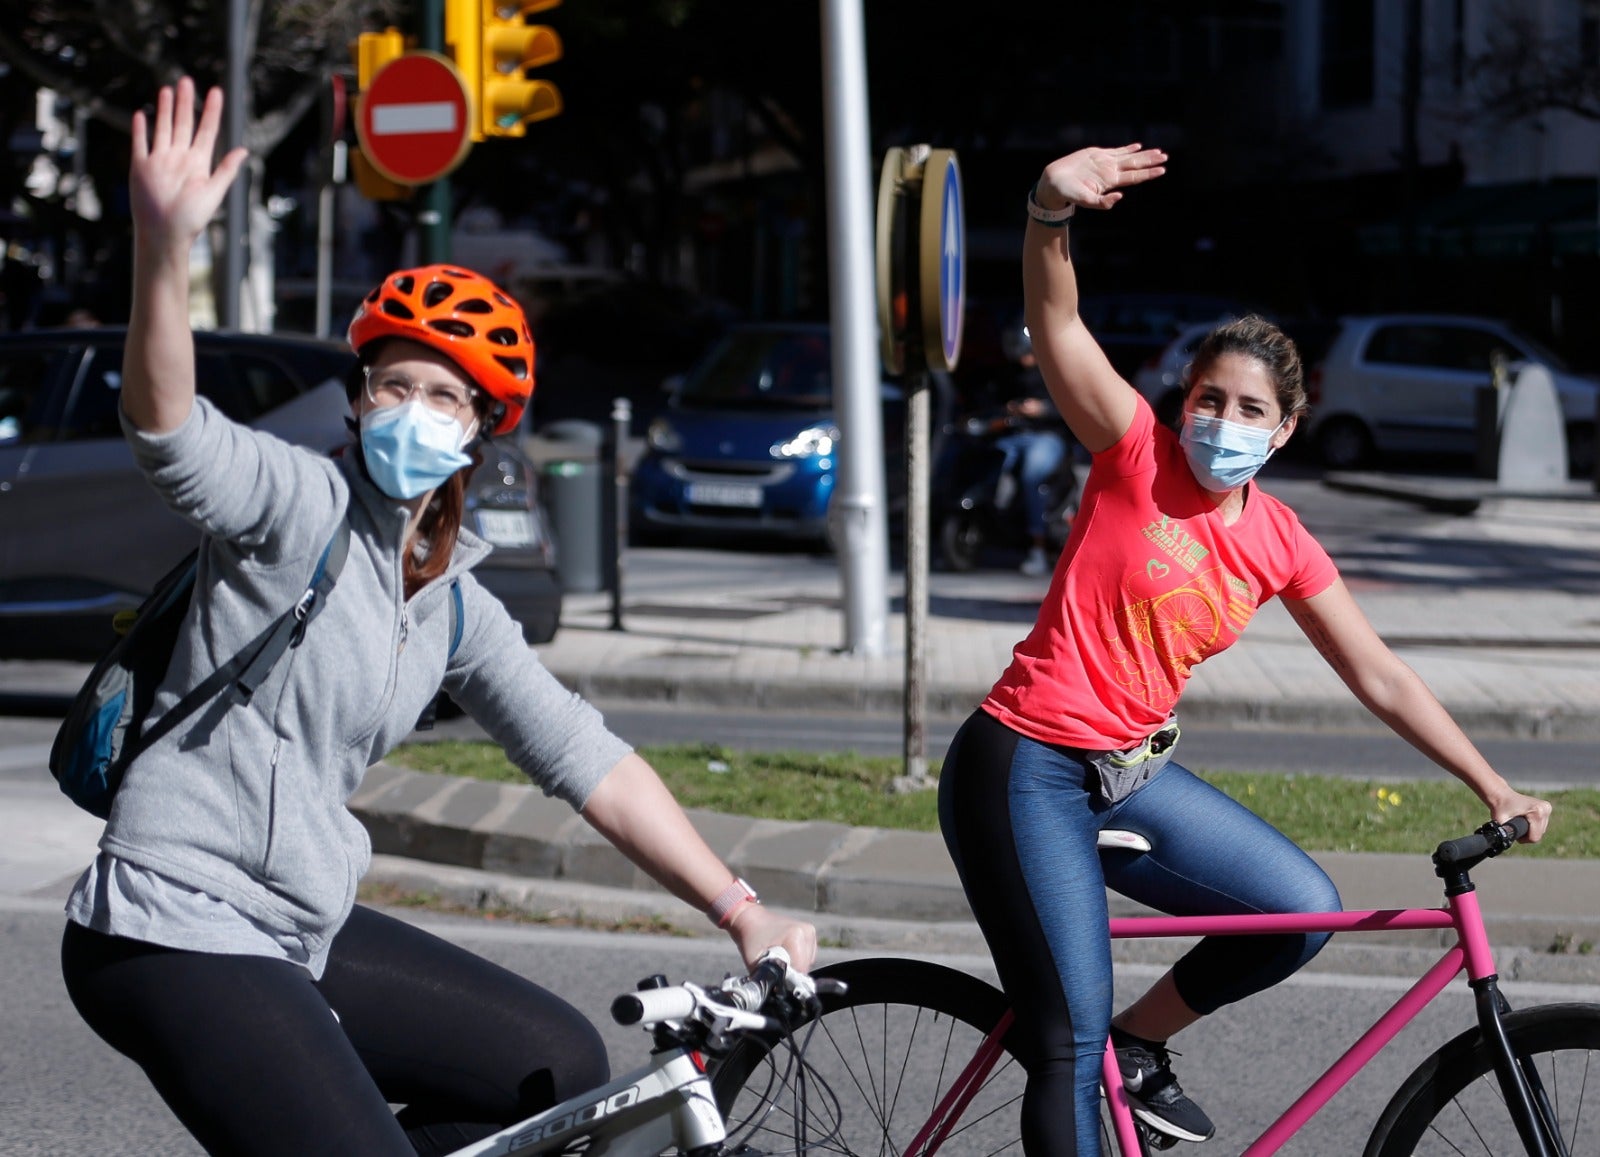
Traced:
[[[974, 712], [939, 775], [939, 826], [1027, 1066], [1022, 1151], [1096, 1154], [1099, 1066], [1110, 1027], [1106, 888], [1173, 915], [1334, 912], [1328, 875], [1288, 837], [1178, 763], [1120, 803], [1069, 747]], [[1150, 851], [1099, 853], [1120, 827]], [[1328, 933], [1206, 938], [1173, 968], [1197, 1013], [1259, 992], [1310, 960]]]

